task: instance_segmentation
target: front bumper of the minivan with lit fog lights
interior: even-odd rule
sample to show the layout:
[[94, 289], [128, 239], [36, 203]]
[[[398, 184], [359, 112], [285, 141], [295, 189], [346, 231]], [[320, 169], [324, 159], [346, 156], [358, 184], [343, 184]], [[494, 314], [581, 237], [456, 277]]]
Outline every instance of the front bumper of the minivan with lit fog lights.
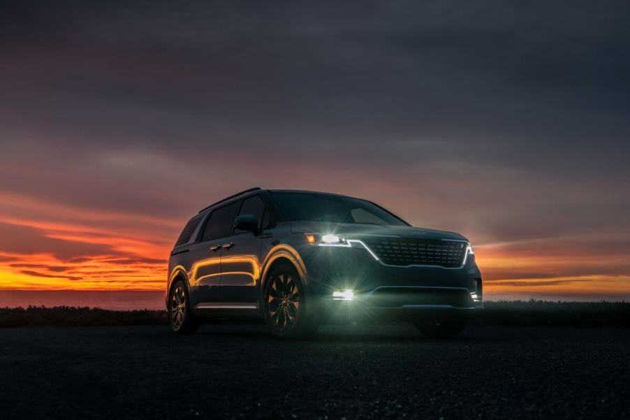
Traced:
[[481, 273], [460, 268], [388, 266], [364, 249], [315, 249], [305, 259], [309, 295], [330, 321], [415, 321], [467, 317], [483, 307]]

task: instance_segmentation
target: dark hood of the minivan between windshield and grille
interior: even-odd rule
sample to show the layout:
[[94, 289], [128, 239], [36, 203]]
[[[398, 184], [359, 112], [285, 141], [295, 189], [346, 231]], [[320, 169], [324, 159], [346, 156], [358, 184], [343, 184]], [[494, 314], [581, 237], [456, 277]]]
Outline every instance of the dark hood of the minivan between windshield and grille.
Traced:
[[416, 226], [392, 226], [382, 224], [330, 223], [330, 222], [291, 222], [293, 233], [333, 233], [344, 238], [361, 238], [364, 236], [398, 236], [416, 239], [456, 239], [467, 240], [459, 233], [435, 231]]

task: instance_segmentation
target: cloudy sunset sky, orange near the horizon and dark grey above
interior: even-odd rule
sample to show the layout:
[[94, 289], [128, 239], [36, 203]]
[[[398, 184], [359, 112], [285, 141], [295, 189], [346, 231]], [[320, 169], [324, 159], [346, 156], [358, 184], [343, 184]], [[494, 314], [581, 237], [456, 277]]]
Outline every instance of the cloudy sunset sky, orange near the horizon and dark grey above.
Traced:
[[630, 300], [626, 2], [5, 4], [0, 289], [163, 289], [260, 186], [460, 232], [490, 295]]

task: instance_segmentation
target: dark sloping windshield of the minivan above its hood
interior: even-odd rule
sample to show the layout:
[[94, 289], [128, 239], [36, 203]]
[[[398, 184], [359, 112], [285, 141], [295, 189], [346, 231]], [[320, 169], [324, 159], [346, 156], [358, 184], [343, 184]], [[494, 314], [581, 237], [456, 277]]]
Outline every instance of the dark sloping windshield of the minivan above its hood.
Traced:
[[357, 198], [301, 192], [272, 192], [271, 196], [288, 221], [409, 226], [378, 205]]

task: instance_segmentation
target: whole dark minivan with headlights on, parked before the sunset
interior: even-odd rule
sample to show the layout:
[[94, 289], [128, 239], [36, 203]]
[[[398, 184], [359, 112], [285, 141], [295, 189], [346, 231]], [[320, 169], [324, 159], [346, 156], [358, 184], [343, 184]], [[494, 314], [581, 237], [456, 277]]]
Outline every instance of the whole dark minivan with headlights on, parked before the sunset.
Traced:
[[410, 226], [370, 201], [252, 188], [184, 227], [168, 261], [177, 333], [207, 319], [265, 319], [279, 337], [331, 320], [401, 320], [430, 337], [460, 333], [483, 307], [469, 241]]

